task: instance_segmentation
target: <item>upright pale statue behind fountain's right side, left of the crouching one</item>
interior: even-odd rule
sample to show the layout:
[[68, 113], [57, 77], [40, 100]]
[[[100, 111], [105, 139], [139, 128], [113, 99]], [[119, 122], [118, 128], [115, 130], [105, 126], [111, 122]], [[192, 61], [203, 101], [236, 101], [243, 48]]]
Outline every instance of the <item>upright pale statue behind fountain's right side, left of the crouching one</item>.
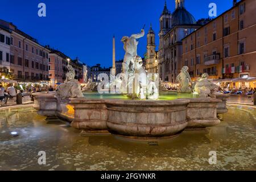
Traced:
[[185, 66], [181, 69], [180, 74], [176, 78], [177, 82], [180, 84], [178, 92], [179, 93], [192, 93], [189, 84], [193, 84], [191, 77], [188, 73], [188, 67]]

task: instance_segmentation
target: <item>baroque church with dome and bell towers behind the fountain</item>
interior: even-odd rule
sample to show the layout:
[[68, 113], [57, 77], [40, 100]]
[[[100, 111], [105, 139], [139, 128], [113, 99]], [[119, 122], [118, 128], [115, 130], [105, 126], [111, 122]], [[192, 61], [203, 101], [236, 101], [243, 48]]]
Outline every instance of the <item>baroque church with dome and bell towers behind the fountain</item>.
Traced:
[[173, 13], [168, 10], [165, 2], [159, 22], [159, 51], [157, 53], [152, 26], [147, 34], [146, 68], [150, 73], [159, 73], [163, 81], [175, 83], [181, 70], [182, 39], [201, 25], [197, 24], [193, 15], [185, 9], [185, 0], [175, 0]]

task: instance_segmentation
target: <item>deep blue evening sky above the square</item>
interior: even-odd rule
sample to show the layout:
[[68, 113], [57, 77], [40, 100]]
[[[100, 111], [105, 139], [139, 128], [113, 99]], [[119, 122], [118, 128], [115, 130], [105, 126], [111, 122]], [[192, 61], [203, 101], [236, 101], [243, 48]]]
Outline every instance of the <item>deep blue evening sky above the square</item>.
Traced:
[[[38, 4], [46, 3], [47, 16], [39, 18]], [[209, 3], [217, 4], [217, 15], [232, 7], [232, 0], [185, 0], [186, 9], [196, 20], [208, 18]], [[123, 59], [121, 38], [138, 33], [150, 23], [159, 38], [159, 17], [164, 0], [1, 0], [0, 19], [13, 22], [39, 43], [64, 52], [88, 65], [112, 65], [112, 38], [116, 59]], [[175, 1], [167, 0], [171, 13]], [[138, 55], [146, 52], [146, 35], [139, 40]], [[158, 47], [156, 48], [158, 49]]]

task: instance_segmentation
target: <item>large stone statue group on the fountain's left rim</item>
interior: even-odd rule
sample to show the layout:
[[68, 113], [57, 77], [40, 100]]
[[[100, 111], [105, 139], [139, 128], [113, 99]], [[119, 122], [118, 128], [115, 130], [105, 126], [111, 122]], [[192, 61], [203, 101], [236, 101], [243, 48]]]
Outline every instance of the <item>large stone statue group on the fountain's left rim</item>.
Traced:
[[84, 97], [81, 92], [81, 85], [75, 79], [75, 69], [68, 64], [68, 72], [66, 73], [66, 80], [64, 84], [57, 87], [56, 97], [60, 100], [68, 100], [68, 98]]

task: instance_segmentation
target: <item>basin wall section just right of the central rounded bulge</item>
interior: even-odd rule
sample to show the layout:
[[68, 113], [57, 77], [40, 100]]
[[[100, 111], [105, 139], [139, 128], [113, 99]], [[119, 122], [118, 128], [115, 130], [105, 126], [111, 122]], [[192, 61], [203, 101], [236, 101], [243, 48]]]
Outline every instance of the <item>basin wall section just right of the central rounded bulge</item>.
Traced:
[[191, 98], [187, 106], [188, 129], [204, 129], [220, 123], [217, 107], [221, 100], [214, 98]]

